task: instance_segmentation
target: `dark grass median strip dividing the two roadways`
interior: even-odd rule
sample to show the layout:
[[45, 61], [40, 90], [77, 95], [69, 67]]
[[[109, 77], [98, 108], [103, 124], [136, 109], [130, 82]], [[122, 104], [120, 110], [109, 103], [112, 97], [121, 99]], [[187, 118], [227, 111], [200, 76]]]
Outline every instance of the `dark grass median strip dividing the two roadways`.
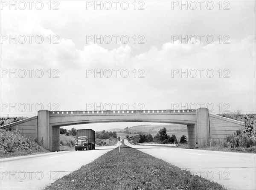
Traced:
[[222, 185], [125, 146], [45, 187], [45, 190], [225, 189]]

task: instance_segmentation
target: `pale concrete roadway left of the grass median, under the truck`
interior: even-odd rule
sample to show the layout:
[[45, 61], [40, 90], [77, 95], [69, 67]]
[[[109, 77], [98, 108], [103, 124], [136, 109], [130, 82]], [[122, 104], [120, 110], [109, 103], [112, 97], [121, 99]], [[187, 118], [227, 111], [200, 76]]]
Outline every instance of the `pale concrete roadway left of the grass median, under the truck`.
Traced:
[[0, 159], [1, 190], [43, 189], [92, 162], [117, 146], [96, 147], [95, 150], [63, 151]]

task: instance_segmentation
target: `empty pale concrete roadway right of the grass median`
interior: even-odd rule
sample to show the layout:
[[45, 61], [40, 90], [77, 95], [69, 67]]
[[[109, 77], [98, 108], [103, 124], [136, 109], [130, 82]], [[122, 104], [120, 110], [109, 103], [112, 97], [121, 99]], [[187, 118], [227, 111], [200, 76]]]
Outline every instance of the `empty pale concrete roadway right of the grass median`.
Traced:
[[256, 189], [256, 154], [125, 144], [228, 189]]

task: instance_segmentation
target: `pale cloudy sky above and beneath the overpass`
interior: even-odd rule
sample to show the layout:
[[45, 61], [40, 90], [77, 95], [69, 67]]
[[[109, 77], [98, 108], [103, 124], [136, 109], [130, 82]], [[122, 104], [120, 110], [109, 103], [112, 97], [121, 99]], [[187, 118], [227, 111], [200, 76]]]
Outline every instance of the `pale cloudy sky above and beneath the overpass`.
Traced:
[[256, 112], [255, 1], [48, 2], [1, 1], [1, 116]]

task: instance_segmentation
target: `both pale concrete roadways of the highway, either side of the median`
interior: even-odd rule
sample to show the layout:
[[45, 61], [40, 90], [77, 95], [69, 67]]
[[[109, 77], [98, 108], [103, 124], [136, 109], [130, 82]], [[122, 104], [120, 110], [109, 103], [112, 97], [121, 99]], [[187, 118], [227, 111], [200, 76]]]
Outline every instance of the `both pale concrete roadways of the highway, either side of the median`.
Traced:
[[[256, 154], [125, 144], [228, 189], [256, 189]], [[0, 189], [43, 189], [49, 183], [92, 162], [115, 146], [0, 159]]]

